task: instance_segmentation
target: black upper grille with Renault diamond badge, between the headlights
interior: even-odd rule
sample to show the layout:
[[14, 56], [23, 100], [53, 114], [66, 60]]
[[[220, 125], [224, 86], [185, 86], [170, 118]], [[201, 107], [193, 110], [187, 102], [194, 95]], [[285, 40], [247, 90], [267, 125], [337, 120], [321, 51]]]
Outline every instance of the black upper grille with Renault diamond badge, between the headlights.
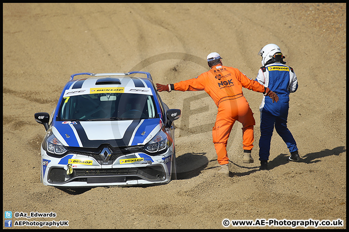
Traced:
[[74, 153], [81, 156], [92, 157], [97, 161], [103, 161], [100, 153], [103, 148], [108, 147], [111, 150], [111, 158], [109, 160], [114, 161], [120, 156], [142, 152], [144, 145], [138, 146], [124, 146], [124, 147], [111, 147], [106, 145], [101, 145], [98, 148], [88, 148], [88, 147], [67, 147], [68, 152]]

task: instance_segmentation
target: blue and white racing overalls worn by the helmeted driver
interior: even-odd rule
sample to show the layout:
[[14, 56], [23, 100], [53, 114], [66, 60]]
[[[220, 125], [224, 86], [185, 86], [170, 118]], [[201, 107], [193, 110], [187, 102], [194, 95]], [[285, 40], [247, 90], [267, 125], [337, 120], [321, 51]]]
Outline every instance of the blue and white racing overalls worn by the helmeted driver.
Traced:
[[259, 106], [260, 131], [259, 160], [269, 160], [270, 141], [274, 130], [281, 136], [289, 149], [289, 152], [298, 152], [296, 141], [287, 129], [289, 93], [298, 88], [297, 76], [293, 69], [280, 62], [274, 62], [263, 66], [258, 71], [255, 79], [265, 87], [269, 87], [278, 97], [278, 102], [272, 102], [271, 98], [265, 96]]

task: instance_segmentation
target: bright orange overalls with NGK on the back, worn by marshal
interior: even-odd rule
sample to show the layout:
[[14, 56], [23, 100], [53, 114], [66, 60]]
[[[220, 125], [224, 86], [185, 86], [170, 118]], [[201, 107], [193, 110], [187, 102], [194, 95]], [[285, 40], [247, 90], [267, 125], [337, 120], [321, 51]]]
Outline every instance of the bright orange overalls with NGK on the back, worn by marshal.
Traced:
[[173, 84], [173, 90], [205, 90], [217, 105], [212, 138], [220, 165], [228, 163], [226, 145], [236, 120], [242, 124], [243, 149], [253, 148], [255, 121], [250, 105], [243, 96], [242, 87], [256, 92], [265, 91], [264, 86], [238, 69], [223, 65], [215, 65], [196, 78]]

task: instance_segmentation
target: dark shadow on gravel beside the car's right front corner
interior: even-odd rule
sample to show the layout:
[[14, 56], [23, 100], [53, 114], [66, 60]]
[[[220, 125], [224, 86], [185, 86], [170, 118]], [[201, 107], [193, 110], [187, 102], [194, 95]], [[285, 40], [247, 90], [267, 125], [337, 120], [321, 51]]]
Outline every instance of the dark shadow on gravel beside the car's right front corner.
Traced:
[[208, 164], [206, 153], [186, 153], [176, 157], [177, 179], [190, 179], [197, 176]]

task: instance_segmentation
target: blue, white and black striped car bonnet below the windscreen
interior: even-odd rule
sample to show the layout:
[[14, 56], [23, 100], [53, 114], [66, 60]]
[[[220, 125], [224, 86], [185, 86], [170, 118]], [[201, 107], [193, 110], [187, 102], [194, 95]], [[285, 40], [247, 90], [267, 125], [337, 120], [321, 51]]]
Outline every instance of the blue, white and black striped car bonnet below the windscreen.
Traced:
[[162, 128], [159, 118], [115, 121], [56, 121], [52, 132], [64, 146], [145, 145]]

